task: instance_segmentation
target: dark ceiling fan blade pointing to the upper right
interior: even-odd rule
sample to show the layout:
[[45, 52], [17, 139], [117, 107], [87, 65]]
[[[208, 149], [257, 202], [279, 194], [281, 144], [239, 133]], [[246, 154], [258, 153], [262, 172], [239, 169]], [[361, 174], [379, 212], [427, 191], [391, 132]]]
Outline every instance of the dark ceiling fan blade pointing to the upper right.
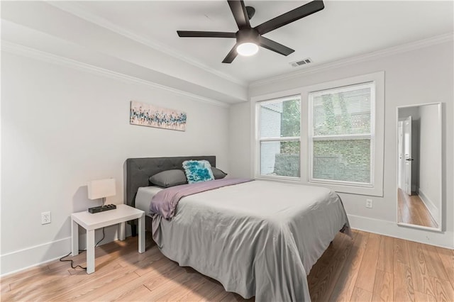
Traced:
[[284, 13], [276, 18], [272, 18], [270, 21], [266, 21], [265, 23], [260, 24], [260, 26], [256, 26], [255, 29], [258, 30], [260, 35], [270, 32], [271, 30], [275, 30], [281, 26], [287, 25], [288, 23], [292, 23], [297, 21], [301, 18], [311, 15], [312, 13], [316, 13], [317, 11], [321, 11], [324, 9], [325, 6], [323, 5], [322, 0], [314, 0], [303, 6], [299, 6], [292, 11]]

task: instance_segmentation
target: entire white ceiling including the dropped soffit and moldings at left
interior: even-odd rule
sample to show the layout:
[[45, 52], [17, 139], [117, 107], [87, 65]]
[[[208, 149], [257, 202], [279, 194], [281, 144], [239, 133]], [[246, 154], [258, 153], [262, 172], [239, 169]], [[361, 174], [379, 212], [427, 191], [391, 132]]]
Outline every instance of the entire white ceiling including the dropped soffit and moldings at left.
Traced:
[[[245, 0], [256, 10], [251, 26], [307, 2]], [[0, 47], [13, 55], [228, 106], [248, 101], [251, 87], [282, 74], [365, 60], [390, 47], [395, 52], [453, 40], [453, 0], [324, 4], [322, 11], [264, 35], [293, 48], [287, 57], [260, 48], [253, 57], [238, 56], [223, 64], [235, 39], [178, 37], [177, 30], [235, 32], [226, 0], [1, 1]], [[404, 47], [392, 48], [399, 45]], [[289, 64], [307, 57], [310, 65]]]

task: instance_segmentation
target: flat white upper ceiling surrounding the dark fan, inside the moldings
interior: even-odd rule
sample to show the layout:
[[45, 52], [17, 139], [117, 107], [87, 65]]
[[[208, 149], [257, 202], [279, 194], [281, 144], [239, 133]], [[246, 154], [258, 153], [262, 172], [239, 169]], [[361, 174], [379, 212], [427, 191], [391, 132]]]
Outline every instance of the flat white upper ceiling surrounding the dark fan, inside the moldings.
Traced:
[[[255, 8], [251, 26], [308, 1], [245, 1]], [[250, 84], [294, 72], [290, 62], [310, 57], [309, 66], [453, 32], [453, 1], [324, 1], [325, 9], [265, 34], [295, 50], [284, 57], [260, 48], [253, 57], [221, 61], [235, 39], [179, 38], [176, 30], [236, 32], [227, 1], [77, 1], [65, 11], [109, 27], [157, 50]]]

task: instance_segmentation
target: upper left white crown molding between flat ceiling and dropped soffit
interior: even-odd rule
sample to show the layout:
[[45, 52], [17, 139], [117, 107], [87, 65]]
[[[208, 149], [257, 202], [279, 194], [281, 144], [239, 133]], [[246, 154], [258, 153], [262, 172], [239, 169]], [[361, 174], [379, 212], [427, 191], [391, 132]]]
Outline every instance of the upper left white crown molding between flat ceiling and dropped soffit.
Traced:
[[154, 50], [163, 52], [166, 55], [175, 57], [178, 60], [187, 62], [190, 65], [194, 65], [195, 67], [203, 69], [206, 72], [215, 74], [216, 76], [226, 79], [230, 82], [233, 82], [233, 83], [238, 84], [243, 87], [248, 86], [247, 82], [241, 81], [240, 79], [238, 79], [236, 77], [232, 77], [231, 75], [225, 74], [223, 72], [219, 72], [218, 70], [211, 68], [207, 65], [204, 65], [203, 63], [195, 60], [192, 57], [182, 55], [181, 53], [176, 52], [174, 49], [168, 47], [167, 45], [159, 43], [157, 40], [153, 40], [150, 38], [144, 38], [143, 36], [137, 35], [137, 34], [131, 32], [130, 30], [127, 30], [126, 28], [117, 26], [114, 23], [107, 21], [105, 18], [101, 18], [100, 16], [96, 16], [94, 13], [89, 13], [89, 12], [85, 11], [84, 9], [82, 9], [77, 4], [74, 4], [73, 2], [70, 2], [70, 1], [46, 1], [46, 3], [48, 3], [52, 6], [55, 6], [57, 9], [61, 9], [62, 11], [66, 11], [67, 13], [71, 13], [74, 16], [82, 18], [85, 21], [94, 23], [97, 26], [101, 26], [103, 28], [109, 29], [109, 30], [113, 31], [114, 33], [118, 33], [118, 35], [123, 35], [126, 38], [134, 40], [135, 42], [146, 45], [150, 48], [153, 48]]

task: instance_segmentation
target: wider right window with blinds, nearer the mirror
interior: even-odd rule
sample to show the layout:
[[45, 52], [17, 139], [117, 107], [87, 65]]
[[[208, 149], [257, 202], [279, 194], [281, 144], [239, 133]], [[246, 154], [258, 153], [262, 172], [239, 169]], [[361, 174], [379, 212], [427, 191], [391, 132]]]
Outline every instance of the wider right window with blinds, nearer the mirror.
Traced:
[[375, 84], [309, 93], [309, 181], [373, 186]]

